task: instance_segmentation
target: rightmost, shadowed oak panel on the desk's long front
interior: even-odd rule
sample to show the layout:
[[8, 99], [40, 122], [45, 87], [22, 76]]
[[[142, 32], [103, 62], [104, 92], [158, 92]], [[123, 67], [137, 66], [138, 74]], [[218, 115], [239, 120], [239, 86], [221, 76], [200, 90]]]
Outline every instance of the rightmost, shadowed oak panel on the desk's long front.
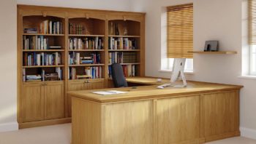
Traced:
[[237, 92], [203, 95], [203, 117], [206, 141], [222, 134], [238, 131]]

